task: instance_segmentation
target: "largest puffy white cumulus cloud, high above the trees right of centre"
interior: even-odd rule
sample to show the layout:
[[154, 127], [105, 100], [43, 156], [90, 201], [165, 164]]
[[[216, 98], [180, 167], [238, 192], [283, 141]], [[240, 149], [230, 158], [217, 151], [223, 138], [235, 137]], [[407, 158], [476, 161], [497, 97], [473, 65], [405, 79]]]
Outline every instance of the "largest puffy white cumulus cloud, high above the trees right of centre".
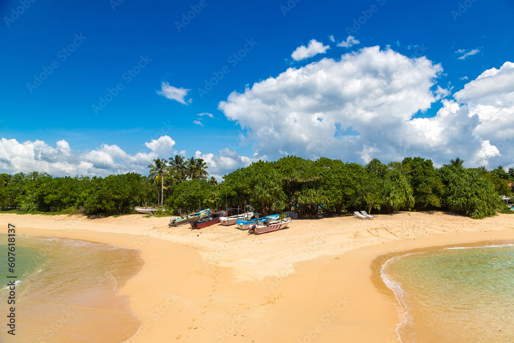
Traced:
[[289, 68], [218, 108], [271, 159], [288, 152], [356, 161], [366, 151], [397, 159], [412, 144], [403, 139], [406, 122], [440, 96], [431, 88], [442, 70], [425, 57], [368, 47]]

